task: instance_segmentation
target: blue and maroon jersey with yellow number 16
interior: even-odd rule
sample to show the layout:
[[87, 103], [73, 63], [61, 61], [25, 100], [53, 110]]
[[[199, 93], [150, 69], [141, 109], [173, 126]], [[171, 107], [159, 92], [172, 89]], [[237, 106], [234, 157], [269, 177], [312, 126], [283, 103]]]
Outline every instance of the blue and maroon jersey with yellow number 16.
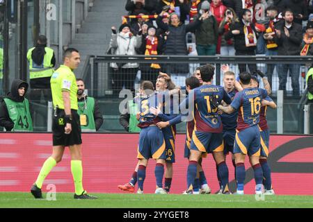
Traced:
[[238, 110], [237, 130], [241, 131], [259, 123], [261, 101], [266, 96], [266, 90], [260, 88], [247, 88], [236, 94], [230, 105]]

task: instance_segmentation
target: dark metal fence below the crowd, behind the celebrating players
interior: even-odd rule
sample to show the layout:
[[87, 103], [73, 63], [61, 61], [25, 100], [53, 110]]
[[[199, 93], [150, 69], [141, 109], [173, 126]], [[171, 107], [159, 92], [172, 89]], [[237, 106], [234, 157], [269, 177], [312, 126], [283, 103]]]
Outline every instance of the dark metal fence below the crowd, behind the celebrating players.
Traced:
[[[298, 83], [300, 96], [305, 92], [305, 74], [312, 63], [313, 56], [90, 56], [85, 64], [83, 78], [93, 96], [117, 98], [122, 88], [138, 89], [141, 80], [155, 83], [159, 71], [170, 74], [176, 85], [185, 85], [184, 81], [195, 69], [207, 63], [216, 66], [214, 84], [223, 85], [221, 66], [229, 65], [230, 71], [239, 75], [239, 65], [255, 64], [257, 69], [266, 73], [268, 65], [275, 66], [272, 74], [273, 95], [277, 95], [279, 78], [277, 65], [300, 65]], [[152, 65], [153, 64], [153, 65]], [[160, 69], [157, 69], [158, 67]], [[247, 67], [248, 70], [248, 67]], [[287, 75], [285, 94], [292, 96], [292, 81]], [[261, 81], [262, 87], [262, 81]]]

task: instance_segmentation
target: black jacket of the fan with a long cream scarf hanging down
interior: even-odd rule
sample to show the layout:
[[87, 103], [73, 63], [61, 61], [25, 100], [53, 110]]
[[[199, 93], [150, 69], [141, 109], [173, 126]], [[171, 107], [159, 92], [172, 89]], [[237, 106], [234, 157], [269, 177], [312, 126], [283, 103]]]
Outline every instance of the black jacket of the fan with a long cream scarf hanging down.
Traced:
[[[253, 31], [255, 31], [255, 34], [257, 35], [257, 31], [255, 30], [255, 25], [251, 23], [251, 27]], [[234, 26], [231, 26], [230, 31], [228, 33], [225, 33], [225, 40], [230, 40], [231, 38], [234, 38], [234, 48], [236, 52], [241, 53], [254, 53], [256, 46], [250, 46], [246, 47], [246, 39], [245, 39], [245, 33], [243, 31], [244, 24], [242, 21], [236, 22]], [[239, 30], [239, 35], [233, 35], [233, 30]]]

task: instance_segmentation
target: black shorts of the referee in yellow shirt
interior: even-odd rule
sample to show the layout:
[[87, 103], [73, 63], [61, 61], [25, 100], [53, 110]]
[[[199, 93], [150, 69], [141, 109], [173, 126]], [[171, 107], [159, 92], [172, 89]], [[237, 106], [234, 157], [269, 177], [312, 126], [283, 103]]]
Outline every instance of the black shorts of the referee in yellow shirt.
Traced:
[[52, 120], [53, 146], [72, 146], [81, 144], [81, 122], [77, 110], [72, 112], [72, 131], [65, 134], [65, 112], [58, 109], [57, 117]]

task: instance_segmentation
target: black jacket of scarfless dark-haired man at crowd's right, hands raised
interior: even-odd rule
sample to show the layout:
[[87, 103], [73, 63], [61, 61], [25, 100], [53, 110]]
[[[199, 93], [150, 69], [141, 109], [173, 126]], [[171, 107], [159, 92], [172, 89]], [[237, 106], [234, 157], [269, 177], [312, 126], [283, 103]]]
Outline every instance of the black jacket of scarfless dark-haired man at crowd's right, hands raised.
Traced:
[[281, 37], [274, 38], [278, 44], [278, 56], [299, 56], [300, 45], [303, 40], [302, 26], [293, 23], [289, 28], [289, 37], [284, 34], [284, 22], [280, 22], [277, 29], [282, 33]]

